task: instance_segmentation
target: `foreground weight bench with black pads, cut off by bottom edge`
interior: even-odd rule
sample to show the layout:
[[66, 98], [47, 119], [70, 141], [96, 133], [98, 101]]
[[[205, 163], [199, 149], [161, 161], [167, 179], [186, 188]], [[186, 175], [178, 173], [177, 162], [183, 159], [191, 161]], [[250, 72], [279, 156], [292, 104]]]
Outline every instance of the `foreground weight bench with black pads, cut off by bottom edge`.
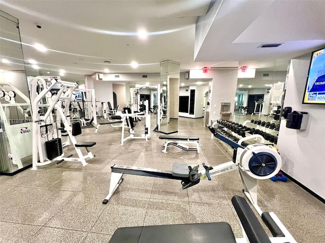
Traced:
[[[228, 223], [215, 222], [118, 228], [109, 243], [297, 242], [272, 212], [265, 212], [272, 216], [268, 222], [264, 220], [274, 236], [269, 237], [243, 197], [233, 196], [232, 204], [240, 220], [243, 238], [235, 238]], [[274, 231], [274, 227], [277, 228], [277, 232]]]

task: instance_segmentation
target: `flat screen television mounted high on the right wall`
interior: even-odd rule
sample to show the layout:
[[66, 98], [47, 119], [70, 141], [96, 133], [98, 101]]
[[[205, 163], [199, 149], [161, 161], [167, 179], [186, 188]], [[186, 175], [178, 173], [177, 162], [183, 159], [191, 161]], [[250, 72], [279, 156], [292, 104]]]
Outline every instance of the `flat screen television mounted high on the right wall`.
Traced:
[[311, 55], [303, 104], [325, 104], [325, 48]]

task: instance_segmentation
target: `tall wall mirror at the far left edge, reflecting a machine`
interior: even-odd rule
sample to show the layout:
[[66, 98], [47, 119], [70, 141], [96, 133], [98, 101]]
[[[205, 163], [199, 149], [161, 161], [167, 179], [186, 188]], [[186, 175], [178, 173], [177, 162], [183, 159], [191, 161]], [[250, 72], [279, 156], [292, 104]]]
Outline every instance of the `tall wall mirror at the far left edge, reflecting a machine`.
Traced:
[[0, 36], [0, 172], [14, 175], [31, 165], [31, 106], [18, 19], [2, 11]]

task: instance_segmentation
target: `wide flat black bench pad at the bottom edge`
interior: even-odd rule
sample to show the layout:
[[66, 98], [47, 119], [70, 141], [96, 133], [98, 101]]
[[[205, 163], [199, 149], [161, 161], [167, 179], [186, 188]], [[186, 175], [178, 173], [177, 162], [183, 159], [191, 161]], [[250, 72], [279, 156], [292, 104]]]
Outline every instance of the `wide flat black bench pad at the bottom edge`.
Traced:
[[118, 228], [110, 243], [236, 243], [228, 223], [197, 223]]

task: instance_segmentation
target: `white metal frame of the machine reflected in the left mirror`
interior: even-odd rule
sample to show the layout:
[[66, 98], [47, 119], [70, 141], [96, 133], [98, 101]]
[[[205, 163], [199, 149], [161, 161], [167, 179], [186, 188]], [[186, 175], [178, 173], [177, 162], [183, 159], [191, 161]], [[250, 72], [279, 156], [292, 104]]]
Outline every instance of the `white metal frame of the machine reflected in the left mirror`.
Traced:
[[[20, 154], [21, 148], [17, 147], [17, 145], [19, 146], [19, 144], [17, 144], [17, 142], [15, 141], [14, 135], [12, 134], [12, 131], [10, 129], [10, 126], [12, 125], [10, 125], [9, 119], [7, 119], [6, 110], [8, 107], [16, 106], [16, 108], [24, 115], [24, 119], [26, 119], [27, 116], [25, 112], [29, 111], [30, 114], [32, 114], [30, 100], [27, 96], [25, 96], [19, 89], [17, 89], [11, 83], [0, 83], [0, 88], [5, 92], [9, 92], [9, 91], [15, 92], [16, 96], [18, 95], [25, 101], [25, 103], [17, 103], [15, 97], [12, 97], [11, 100], [8, 101], [9, 103], [7, 104], [3, 104], [0, 102], [0, 116], [4, 121], [4, 127], [9, 141], [12, 162], [14, 165], [18, 166], [18, 169], [21, 169], [23, 168], [22, 161], [21, 161], [21, 154]], [[28, 108], [26, 110], [23, 110], [22, 106], [28, 106]], [[19, 122], [19, 127], [28, 127], [28, 130], [32, 130], [29, 122], [28, 123]]]

